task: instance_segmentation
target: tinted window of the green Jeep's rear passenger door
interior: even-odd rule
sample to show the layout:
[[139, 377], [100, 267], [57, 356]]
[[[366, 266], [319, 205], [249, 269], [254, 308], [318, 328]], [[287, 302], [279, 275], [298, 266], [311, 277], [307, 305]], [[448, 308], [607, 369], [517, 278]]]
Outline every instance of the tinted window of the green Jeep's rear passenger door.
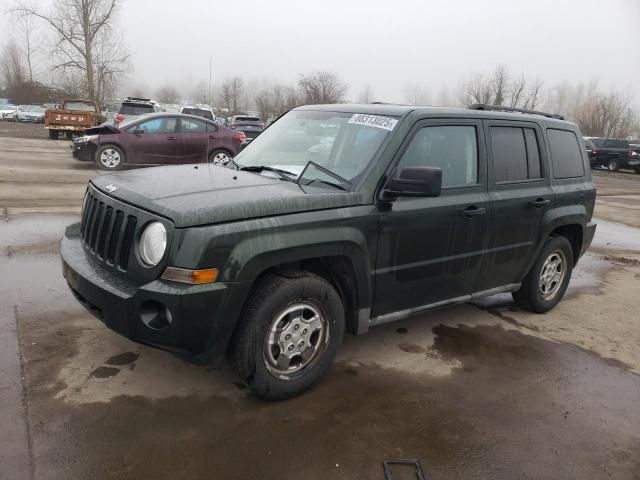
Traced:
[[542, 176], [536, 131], [522, 127], [491, 127], [495, 181], [517, 182]]

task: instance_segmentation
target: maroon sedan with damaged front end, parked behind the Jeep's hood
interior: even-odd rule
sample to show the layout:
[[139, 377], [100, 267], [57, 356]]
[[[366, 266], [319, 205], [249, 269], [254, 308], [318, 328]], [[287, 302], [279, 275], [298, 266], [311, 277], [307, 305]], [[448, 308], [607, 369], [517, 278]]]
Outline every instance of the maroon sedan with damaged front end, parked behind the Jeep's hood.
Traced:
[[73, 156], [103, 170], [125, 165], [212, 162], [226, 165], [246, 140], [213, 121], [193, 115], [152, 113], [118, 126], [102, 124], [73, 141]]

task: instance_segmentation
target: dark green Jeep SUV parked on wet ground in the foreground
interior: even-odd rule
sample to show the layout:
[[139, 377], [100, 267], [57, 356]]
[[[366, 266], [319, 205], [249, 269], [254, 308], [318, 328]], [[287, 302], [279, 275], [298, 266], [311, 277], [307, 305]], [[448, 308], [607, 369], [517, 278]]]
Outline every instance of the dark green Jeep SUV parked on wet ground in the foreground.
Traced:
[[228, 167], [95, 177], [64, 276], [108, 327], [226, 353], [266, 398], [316, 382], [345, 332], [504, 292], [544, 313], [595, 232], [586, 150], [562, 117], [491, 108], [305, 106]]

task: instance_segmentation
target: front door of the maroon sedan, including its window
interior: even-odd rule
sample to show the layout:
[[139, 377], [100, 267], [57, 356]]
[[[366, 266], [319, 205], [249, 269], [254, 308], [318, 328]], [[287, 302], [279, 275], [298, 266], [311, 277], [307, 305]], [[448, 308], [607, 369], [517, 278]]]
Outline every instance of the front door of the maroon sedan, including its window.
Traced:
[[[176, 117], [156, 117], [129, 127], [125, 133], [128, 163], [176, 163], [178, 158]], [[135, 133], [142, 130], [142, 133]]]

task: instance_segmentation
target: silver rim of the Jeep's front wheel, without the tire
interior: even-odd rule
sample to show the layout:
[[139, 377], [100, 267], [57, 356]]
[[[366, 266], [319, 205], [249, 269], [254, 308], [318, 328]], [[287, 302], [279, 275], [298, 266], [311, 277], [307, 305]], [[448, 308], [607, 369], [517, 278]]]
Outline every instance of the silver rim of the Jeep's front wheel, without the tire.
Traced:
[[299, 372], [320, 358], [328, 342], [325, 315], [309, 301], [297, 302], [271, 322], [263, 348], [264, 364], [276, 375]]

